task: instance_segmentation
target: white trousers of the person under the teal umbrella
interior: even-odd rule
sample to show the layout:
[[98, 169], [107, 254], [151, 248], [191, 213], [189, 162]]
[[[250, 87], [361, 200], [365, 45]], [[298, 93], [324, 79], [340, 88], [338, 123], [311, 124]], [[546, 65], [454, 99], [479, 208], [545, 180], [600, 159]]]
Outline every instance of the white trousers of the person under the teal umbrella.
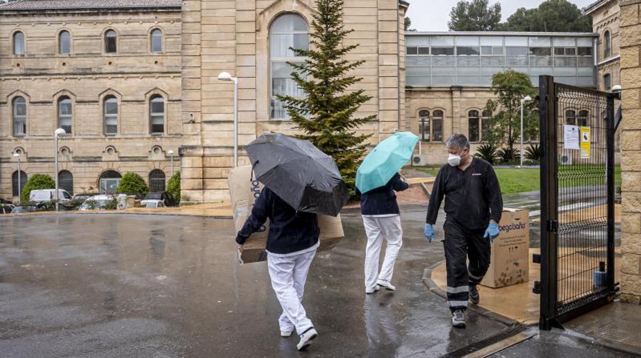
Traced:
[[[367, 234], [367, 248], [365, 249], [365, 289], [373, 289], [376, 281], [392, 281], [394, 263], [403, 245], [403, 230], [401, 229], [401, 216], [390, 217], [363, 217], [363, 226]], [[381, 254], [383, 238], [387, 240], [385, 260], [381, 272], [378, 272], [378, 262]]]

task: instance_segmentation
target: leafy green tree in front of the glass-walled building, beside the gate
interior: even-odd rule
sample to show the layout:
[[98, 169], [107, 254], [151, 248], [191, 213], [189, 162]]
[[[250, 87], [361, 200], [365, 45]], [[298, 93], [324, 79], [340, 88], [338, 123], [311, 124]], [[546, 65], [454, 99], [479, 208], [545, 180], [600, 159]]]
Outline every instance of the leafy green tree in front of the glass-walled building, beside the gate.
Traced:
[[[492, 90], [496, 99], [488, 100], [485, 109], [493, 115], [488, 123], [487, 141], [490, 144], [508, 146], [513, 153], [514, 144], [520, 139], [520, 100], [526, 96], [535, 98], [536, 89], [528, 74], [507, 70], [492, 76]], [[535, 138], [538, 134], [537, 101], [524, 105], [524, 138]], [[512, 158], [515, 159], [515, 158]]]

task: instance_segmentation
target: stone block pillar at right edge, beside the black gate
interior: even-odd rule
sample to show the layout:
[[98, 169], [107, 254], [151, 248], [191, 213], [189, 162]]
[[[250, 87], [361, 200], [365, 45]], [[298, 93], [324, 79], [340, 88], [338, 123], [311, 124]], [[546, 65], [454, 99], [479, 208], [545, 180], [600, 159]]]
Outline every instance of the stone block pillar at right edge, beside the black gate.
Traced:
[[641, 304], [641, 0], [620, 3], [622, 300]]

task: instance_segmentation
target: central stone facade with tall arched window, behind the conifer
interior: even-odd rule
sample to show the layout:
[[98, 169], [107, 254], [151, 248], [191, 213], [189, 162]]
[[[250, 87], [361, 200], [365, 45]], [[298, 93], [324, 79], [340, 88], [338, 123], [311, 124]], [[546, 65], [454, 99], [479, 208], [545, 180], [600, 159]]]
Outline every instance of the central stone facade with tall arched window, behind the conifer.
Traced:
[[[183, 2], [183, 118], [193, 116], [194, 145], [181, 147], [183, 198], [228, 199], [227, 177], [233, 158], [233, 84], [238, 78], [241, 148], [263, 132], [292, 133], [276, 94], [296, 95], [288, 82], [288, 47], [308, 45], [313, 0], [185, 0]], [[373, 133], [372, 144], [404, 128], [404, 14], [399, 0], [347, 0], [344, 45], [359, 44], [347, 56], [364, 60], [354, 71], [363, 77], [356, 88], [372, 96], [359, 115], [377, 114], [361, 128]], [[242, 162], [246, 159], [241, 158]]]

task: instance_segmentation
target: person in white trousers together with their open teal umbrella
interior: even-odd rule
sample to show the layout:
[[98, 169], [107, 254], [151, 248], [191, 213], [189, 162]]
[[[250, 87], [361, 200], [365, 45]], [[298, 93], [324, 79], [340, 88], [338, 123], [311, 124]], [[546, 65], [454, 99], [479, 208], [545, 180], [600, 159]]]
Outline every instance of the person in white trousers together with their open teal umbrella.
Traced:
[[[397, 191], [410, 187], [398, 171], [412, 159], [419, 137], [411, 132], [398, 132], [370, 152], [356, 171], [356, 194], [361, 197], [363, 226], [367, 233], [365, 248], [365, 293], [381, 287], [396, 290], [391, 283], [394, 263], [403, 245], [401, 212], [396, 201]], [[383, 238], [387, 241], [385, 260], [379, 272], [378, 263]]]

